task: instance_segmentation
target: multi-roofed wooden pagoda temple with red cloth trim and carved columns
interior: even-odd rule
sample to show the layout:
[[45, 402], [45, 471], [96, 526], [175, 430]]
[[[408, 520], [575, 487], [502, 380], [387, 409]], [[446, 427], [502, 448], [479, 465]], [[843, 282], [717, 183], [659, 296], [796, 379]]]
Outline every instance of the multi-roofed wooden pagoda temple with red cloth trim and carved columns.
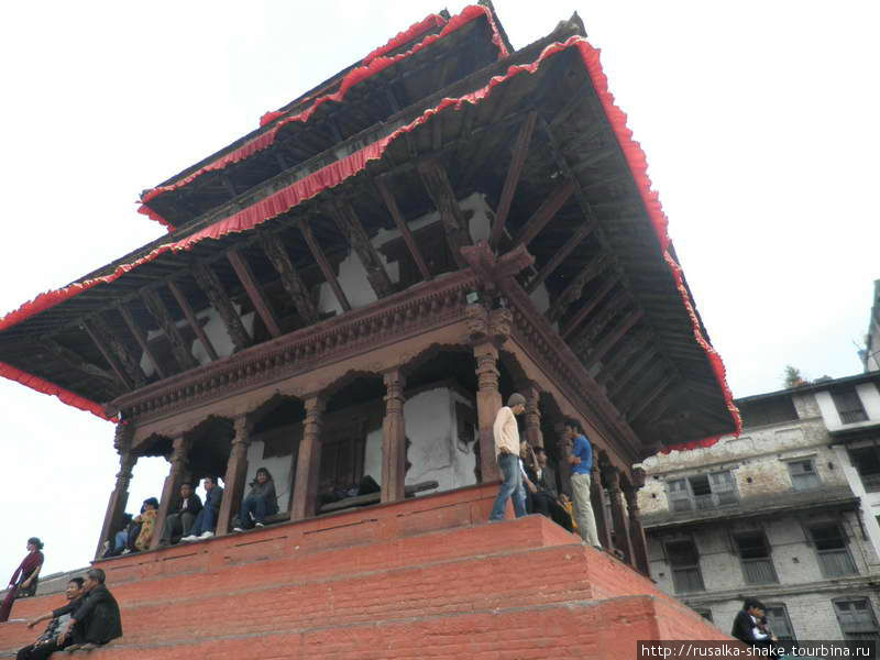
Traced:
[[[99, 550], [139, 459], [168, 461], [158, 529], [183, 481], [223, 480], [216, 538], [158, 548], [155, 534], [153, 550], [97, 560], [111, 585], [173, 590], [170, 575], [300, 561], [319, 531], [337, 540], [315, 553], [471, 535], [437, 541], [576, 547], [604, 562], [590, 598], [649, 594], [681, 616], [639, 575], [634, 464], [739, 420], [585, 37], [575, 14], [515, 50], [490, 3], [432, 14], [145, 190], [141, 212], [166, 235], [0, 319], [0, 375], [116, 424]], [[483, 525], [498, 483], [492, 425], [514, 392], [562, 491], [562, 426], [586, 431], [600, 535], [616, 552], [543, 518]], [[280, 513], [233, 535], [261, 466]], [[365, 476], [375, 496], [331, 497]], [[689, 635], [717, 638], [694, 617]]]

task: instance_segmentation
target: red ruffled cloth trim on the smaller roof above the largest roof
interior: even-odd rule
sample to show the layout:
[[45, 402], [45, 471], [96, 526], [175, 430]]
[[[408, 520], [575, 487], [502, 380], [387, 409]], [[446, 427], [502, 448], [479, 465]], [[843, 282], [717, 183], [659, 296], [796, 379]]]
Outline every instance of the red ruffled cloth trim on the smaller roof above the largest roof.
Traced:
[[[208, 165], [200, 167], [193, 174], [182, 178], [178, 182], [168, 184], [167, 186], [158, 186], [156, 188], [147, 190], [141, 196], [141, 208], [139, 209], [139, 212], [147, 216], [153, 220], [163, 222], [163, 224], [165, 224], [166, 227], [169, 226], [169, 223], [164, 219], [162, 219], [161, 216], [155, 210], [152, 209], [147, 210], [148, 209], [147, 205], [150, 200], [154, 199], [158, 195], [162, 195], [163, 193], [168, 193], [170, 190], [183, 188], [184, 186], [191, 183], [194, 179], [198, 178], [199, 176], [208, 172], [223, 169], [229, 165], [231, 165], [232, 163], [244, 161], [250, 156], [252, 156], [253, 154], [255, 154], [256, 152], [267, 148], [275, 142], [278, 131], [282, 129], [282, 127], [295, 121], [298, 122], [308, 121], [309, 118], [316, 112], [316, 110], [323, 103], [327, 103], [329, 101], [341, 102], [345, 98], [345, 95], [349, 92], [349, 90], [359, 82], [372, 76], [375, 76], [380, 72], [383, 72], [393, 64], [399, 62], [400, 59], [405, 59], [414, 55], [415, 53], [418, 53], [422, 48], [426, 48], [432, 43], [443, 38], [451, 32], [459, 30], [463, 25], [466, 25], [471, 21], [474, 21], [481, 16], [485, 16], [490, 25], [492, 26], [492, 30], [494, 32], [492, 41], [493, 43], [499, 46], [499, 53], [501, 53], [499, 58], [502, 56], [506, 56], [507, 48], [504, 46], [504, 43], [501, 40], [501, 35], [498, 35], [497, 33], [497, 29], [492, 18], [492, 12], [488, 10], [488, 8], [479, 4], [472, 4], [470, 7], [465, 7], [460, 14], [450, 19], [449, 22], [446, 24], [446, 26], [438, 34], [430, 34], [426, 36], [422, 41], [420, 41], [418, 44], [416, 44], [405, 53], [398, 53], [397, 55], [394, 55], [392, 57], [377, 56], [370, 59], [370, 62], [366, 65], [356, 67], [350, 70], [348, 74], [345, 74], [345, 77], [342, 79], [342, 82], [340, 84], [340, 87], [337, 91], [318, 97], [308, 108], [306, 108], [301, 112], [284, 117], [283, 119], [277, 119], [282, 114], [284, 114], [283, 112], [280, 112], [279, 114], [277, 114], [277, 117], [271, 118], [265, 122], [261, 120], [261, 125], [264, 125], [265, 123], [268, 123], [274, 119], [277, 119], [275, 125], [273, 125], [265, 133], [257, 135], [253, 140], [250, 140], [249, 142], [242, 144], [240, 147], [229, 152], [228, 154], [220, 156], [217, 161], [213, 161], [212, 163], [209, 163]], [[263, 118], [265, 119], [266, 116], [264, 114]]]

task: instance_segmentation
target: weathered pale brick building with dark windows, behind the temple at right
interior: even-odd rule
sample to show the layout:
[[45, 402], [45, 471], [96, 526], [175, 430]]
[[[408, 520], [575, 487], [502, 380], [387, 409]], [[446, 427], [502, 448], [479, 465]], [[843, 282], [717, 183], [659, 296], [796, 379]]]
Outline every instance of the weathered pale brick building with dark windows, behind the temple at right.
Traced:
[[737, 399], [743, 433], [645, 461], [651, 576], [723, 630], [880, 638], [880, 373]]

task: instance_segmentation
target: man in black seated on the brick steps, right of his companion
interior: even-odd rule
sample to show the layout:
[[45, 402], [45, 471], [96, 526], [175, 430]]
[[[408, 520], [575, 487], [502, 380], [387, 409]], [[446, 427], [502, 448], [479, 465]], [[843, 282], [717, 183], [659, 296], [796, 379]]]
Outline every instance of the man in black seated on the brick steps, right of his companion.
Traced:
[[106, 575], [101, 569], [86, 572], [86, 592], [79, 607], [70, 616], [63, 640], [73, 644], [67, 651], [91, 650], [122, 637], [122, 618], [113, 594], [105, 586]]

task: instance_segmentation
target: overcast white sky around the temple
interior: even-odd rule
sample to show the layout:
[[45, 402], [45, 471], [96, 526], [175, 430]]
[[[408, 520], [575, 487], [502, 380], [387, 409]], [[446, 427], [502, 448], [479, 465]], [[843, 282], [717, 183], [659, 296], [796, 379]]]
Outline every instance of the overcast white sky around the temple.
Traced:
[[[439, 1], [3, 3], [0, 315], [161, 235], [135, 212], [140, 190]], [[583, 18], [735, 396], [779, 388], [788, 363], [809, 377], [860, 371], [854, 342], [880, 277], [880, 6], [496, 9], [516, 47]], [[7, 381], [0, 402], [0, 580], [32, 535], [44, 574], [85, 565], [118, 469], [112, 425]], [[166, 472], [161, 459], [135, 469], [129, 510]]]

